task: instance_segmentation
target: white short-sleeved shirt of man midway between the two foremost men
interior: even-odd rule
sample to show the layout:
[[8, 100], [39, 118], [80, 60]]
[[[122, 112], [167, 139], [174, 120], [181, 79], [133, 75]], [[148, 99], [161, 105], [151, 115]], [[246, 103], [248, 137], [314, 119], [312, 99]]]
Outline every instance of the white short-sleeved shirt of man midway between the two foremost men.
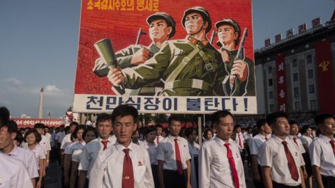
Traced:
[[186, 161], [191, 159], [190, 152], [188, 150], [188, 141], [180, 136], [177, 138], [174, 136], [167, 136], [163, 141], [159, 142], [157, 146], [157, 160], [164, 162], [163, 169], [177, 171], [176, 162], [176, 150], [174, 148], [174, 139], [177, 139], [179, 146], [180, 159], [183, 169], [187, 169]]

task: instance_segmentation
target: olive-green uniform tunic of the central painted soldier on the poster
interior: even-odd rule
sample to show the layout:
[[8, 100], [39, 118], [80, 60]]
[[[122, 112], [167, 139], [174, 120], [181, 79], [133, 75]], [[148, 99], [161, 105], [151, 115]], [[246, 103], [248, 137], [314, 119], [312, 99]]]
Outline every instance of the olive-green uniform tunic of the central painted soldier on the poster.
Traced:
[[[184, 68], [179, 65], [184, 64]], [[170, 40], [153, 58], [123, 71], [126, 88], [140, 88], [152, 81], [164, 80], [161, 95], [223, 95], [220, 77], [227, 75], [221, 54], [207, 41], [191, 36]]]

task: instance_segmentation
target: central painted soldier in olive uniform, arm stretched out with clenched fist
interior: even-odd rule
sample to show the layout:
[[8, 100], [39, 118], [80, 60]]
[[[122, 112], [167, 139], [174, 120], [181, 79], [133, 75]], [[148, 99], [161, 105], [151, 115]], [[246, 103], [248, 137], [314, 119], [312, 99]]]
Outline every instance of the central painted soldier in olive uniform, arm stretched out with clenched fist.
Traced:
[[211, 30], [209, 13], [200, 6], [188, 8], [181, 24], [188, 34], [185, 39], [165, 42], [155, 56], [141, 65], [110, 70], [110, 82], [137, 89], [163, 79], [163, 91], [158, 93], [161, 96], [222, 96], [220, 80], [228, 73], [221, 54], [206, 38]]

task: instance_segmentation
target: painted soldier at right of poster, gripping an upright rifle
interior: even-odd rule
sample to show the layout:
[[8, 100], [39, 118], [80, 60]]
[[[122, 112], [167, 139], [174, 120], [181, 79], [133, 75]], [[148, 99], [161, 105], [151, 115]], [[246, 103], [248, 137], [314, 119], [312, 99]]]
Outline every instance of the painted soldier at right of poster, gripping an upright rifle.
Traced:
[[251, 59], [245, 57], [234, 60], [237, 56], [237, 46], [241, 37], [241, 29], [232, 19], [222, 19], [215, 24], [218, 29], [217, 45], [229, 76], [236, 75], [234, 86], [230, 88], [229, 77], [223, 80], [225, 95], [255, 96], [255, 65]]

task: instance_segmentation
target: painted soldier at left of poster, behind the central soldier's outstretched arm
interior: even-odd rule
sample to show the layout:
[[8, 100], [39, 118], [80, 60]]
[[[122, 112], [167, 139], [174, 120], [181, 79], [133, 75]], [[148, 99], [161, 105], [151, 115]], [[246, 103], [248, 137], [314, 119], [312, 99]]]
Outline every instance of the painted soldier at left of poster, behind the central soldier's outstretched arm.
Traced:
[[[161, 49], [163, 43], [176, 33], [176, 22], [167, 13], [150, 15], [147, 17], [147, 24], [149, 25], [149, 36], [152, 40], [151, 45], [149, 47], [130, 45], [121, 49], [115, 54], [120, 68], [131, 68], [144, 63], [144, 61], [154, 56]], [[108, 70], [107, 65], [101, 61], [101, 58], [96, 59], [93, 71], [98, 77], [107, 76]], [[163, 90], [163, 85], [160, 80], [155, 81], [142, 88], [131, 90], [130, 95], [155, 95], [158, 91]]]

